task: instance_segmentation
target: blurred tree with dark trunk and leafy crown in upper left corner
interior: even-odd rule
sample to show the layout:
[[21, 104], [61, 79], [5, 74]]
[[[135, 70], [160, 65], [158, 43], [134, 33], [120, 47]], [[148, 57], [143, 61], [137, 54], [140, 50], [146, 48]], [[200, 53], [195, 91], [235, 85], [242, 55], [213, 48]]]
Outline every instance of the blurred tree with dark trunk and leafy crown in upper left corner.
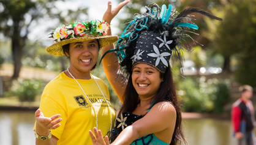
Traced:
[[87, 9], [80, 8], [78, 10], [67, 10], [68, 15], [63, 15], [55, 2], [53, 0], [0, 1], [0, 33], [12, 41], [13, 79], [19, 76], [23, 48], [28, 40], [28, 34], [34, 27], [40, 29], [38, 22], [40, 19], [57, 18], [61, 22], [66, 22], [70, 19], [77, 19], [79, 13], [87, 13]]

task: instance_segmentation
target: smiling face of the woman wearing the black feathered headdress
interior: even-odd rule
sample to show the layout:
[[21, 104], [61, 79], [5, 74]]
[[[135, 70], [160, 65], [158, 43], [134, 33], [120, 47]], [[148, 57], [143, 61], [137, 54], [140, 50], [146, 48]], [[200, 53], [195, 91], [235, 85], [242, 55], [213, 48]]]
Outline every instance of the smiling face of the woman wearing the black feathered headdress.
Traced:
[[162, 78], [154, 66], [138, 63], [132, 70], [132, 84], [140, 97], [152, 97], [159, 90]]

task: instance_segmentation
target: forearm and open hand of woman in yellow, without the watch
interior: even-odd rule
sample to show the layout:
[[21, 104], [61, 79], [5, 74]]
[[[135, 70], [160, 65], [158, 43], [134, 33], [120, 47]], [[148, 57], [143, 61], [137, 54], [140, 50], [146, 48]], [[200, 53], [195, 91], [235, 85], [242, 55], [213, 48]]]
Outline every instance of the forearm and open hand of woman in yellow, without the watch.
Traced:
[[[56, 129], [59, 126], [61, 126], [61, 124], [59, 124], [59, 122], [61, 122], [62, 120], [61, 118], [59, 118], [60, 116], [61, 115], [54, 115], [50, 118], [47, 118], [43, 115], [40, 109], [38, 109], [35, 113], [37, 134], [40, 136], [48, 136], [50, 133], [50, 129]], [[56, 138], [53, 135], [50, 139], [44, 141], [40, 140], [39, 138], [36, 138], [36, 145], [56, 145], [57, 142], [58, 138]]]

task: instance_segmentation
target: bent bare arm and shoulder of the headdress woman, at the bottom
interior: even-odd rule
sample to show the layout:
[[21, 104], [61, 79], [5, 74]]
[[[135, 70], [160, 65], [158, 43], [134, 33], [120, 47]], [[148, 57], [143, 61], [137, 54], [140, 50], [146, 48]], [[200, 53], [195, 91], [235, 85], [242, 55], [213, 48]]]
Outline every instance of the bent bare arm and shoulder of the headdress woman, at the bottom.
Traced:
[[176, 124], [176, 111], [168, 102], [159, 102], [148, 114], [126, 127], [112, 143], [131, 144], [137, 138], [154, 133], [160, 140], [170, 144]]

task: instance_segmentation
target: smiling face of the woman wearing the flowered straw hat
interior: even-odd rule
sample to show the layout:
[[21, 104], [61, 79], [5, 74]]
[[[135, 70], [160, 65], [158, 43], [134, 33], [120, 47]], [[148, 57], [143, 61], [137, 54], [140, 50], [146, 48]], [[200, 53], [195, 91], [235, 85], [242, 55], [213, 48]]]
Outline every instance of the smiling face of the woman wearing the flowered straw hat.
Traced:
[[73, 76], [77, 79], [88, 77], [91, 69], [96, 65], [98, 54], [97, 40], [70, 43], [69, 54], [66, 55], [70, 58], [69, 70]]

